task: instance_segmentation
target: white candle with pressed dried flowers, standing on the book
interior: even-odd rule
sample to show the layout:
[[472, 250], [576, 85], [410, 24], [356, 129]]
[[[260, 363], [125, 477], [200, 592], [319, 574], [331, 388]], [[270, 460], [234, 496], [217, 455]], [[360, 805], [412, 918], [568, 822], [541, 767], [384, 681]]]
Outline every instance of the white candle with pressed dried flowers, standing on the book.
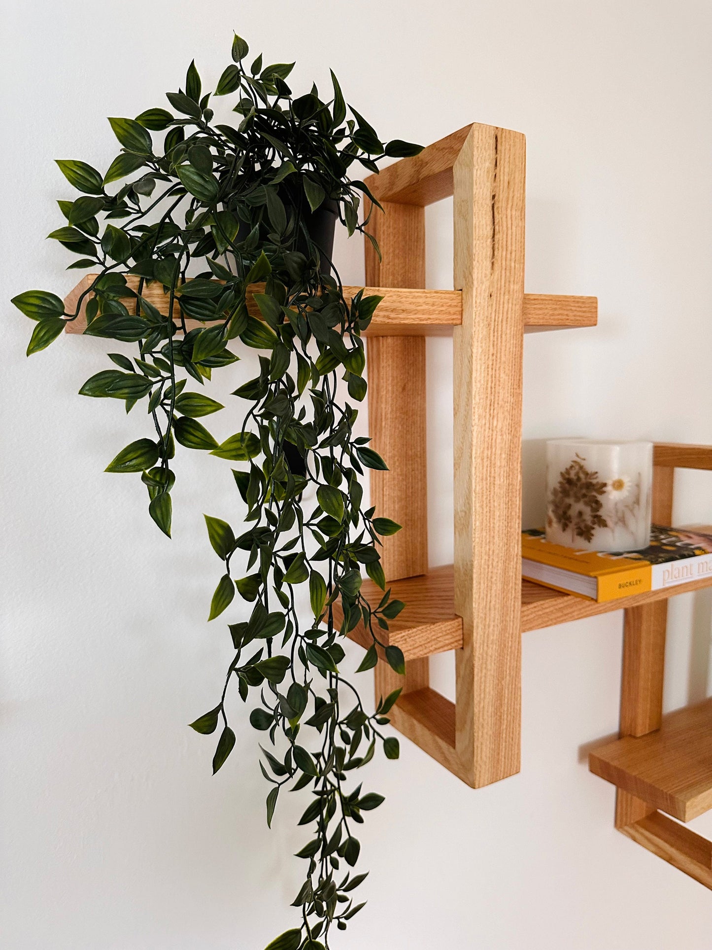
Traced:
[[548, 542], [640, 550], [650, 542], [651, 504], [651, 442], [547, 442]]

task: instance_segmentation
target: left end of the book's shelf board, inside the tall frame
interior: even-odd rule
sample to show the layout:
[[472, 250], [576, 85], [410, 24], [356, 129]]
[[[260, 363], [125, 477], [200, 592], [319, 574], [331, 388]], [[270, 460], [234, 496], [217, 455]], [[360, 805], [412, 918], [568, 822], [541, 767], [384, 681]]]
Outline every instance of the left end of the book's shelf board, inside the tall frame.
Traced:
[[[375, 631], [385, 646], [397, 646], [405, 659], [432, 656], [462, 646], [462, 619], [454, 609], [455, 586], [451, 564], [434, 567], [417, 578], [394, 580], [390, 587], [391, 599], [403, 600], [405, 607], [394, 620], [388, 620], [388, 630], [375, 625]], [[372, 580], [364, 580], [362, 593], [375, 607], [384, 592]], [[352, 640], [369, 647], [373, 639], [360, 623], [348, 635]]]

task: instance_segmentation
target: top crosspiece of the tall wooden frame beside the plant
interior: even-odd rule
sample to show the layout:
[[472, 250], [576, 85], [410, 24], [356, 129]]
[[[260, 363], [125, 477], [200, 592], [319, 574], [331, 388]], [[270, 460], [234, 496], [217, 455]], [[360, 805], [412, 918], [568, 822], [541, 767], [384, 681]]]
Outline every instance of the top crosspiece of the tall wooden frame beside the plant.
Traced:
[[453, 194], [453, 168], [472, 125], [423, 148], [412, 159], [401, 159], [365, 180], [382, 204], [397, 201], [424, 207]]

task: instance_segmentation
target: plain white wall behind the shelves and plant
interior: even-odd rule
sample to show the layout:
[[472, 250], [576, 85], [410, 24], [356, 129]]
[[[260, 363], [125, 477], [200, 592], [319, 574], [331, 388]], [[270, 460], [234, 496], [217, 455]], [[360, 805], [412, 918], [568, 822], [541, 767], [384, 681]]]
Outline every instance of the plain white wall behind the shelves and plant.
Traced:
[[[710, 14], [705, 0], [7, 0], [4, 950], [259, 950], [293, 920], [301, 868], [286, 855], [303, 840], [292, 803], [265, 827], [249, 726], [213, 779], [212, 740], [184, 725], [213, 705], [228, 658], [224, 626], [205, 623], [217, 565], [201, 517], [230, 512], [227, 467], [183, 453], [166, 541], [139, 480], [103, 474], [137, 420], [76, 396], [105, 366], [102, 342], [68, 337], [25, 359], [29, 324], [9, 297], [72, 285], [63, 250], [43, 240], [69, 190], [51, 160], [105, 167], [116, 144], [104, 117], [160, 104], [194, 55], [214, 84], [233, 28], [268, 60], [297, 59], [297, 85], [326, 84], [333, 66], [384, 136], [432, 142], [472, 121], [525, 132], [527, 290], [600, 306], [596, 329], [526, 340], [536, 523], [547, 437], [712, 442]], [[447, 287], [446, 203], [428, 214], [429, 286]], [[345, 280], [363, 279], [361, 248], [339, 254]], [[428, 358], [438, 563], [451, 547], [447, 344]], [[681, 478], [678, 522], [712, 520], [710, 478]], [[673, 601], [668, 708], [707, 693], [711, 612], [710, 592]], [[407, 741], [399, 763], [377, 759], [367, 785], [387, 801], [363, 834], [369, 905], [339, 946], [712, 944], [709, 892], [614, 832], [613, 789], [579, 753], [616, 730], [620, 655], [620, 614], [525, 635], [522, 770], [498, 785], [466, 788]], [[433, 666], [449, 690], [448, 663]], [[693, 824], [712, 833], [709, 817]]]

